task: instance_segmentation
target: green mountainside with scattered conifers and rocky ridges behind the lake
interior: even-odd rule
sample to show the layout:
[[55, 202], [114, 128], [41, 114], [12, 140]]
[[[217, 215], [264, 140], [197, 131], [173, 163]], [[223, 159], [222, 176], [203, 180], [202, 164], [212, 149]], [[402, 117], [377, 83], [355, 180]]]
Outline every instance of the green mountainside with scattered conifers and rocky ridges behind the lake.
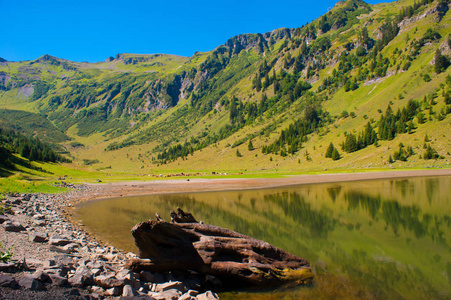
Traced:
[[347, 0], [192, 57], [2, 60], [0, 124], [45, 119], [74, 166], [111, 172], [449, 167], [449, 8]]

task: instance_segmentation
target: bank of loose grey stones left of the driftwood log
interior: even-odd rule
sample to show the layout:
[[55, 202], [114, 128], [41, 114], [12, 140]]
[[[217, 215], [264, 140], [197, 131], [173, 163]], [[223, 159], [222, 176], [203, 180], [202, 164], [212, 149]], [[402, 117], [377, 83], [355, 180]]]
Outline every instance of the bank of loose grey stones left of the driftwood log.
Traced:
[[136, 254], [102, 245], [65, 217], [70, 197], [92, 192], [88, 186], [73, 188], [76, 190], [67, 194], [15, 194], [3, 200], [12, 207], [9, 216], [0, 215], [2, 247], [14, 246], [13, 258], [24, 259], [0, 263], [0, 270], [7, 273], [0, 274], [0, 287], [32, 291], [72, 288], [65, 292], [69, 298], [81, 295], [85, 299], [219, 299], [212, 292], [193, 290], [202, 290], [202, 280], [211, 280], [207, 276], [137, 274], [125, 269], [125, 261]]

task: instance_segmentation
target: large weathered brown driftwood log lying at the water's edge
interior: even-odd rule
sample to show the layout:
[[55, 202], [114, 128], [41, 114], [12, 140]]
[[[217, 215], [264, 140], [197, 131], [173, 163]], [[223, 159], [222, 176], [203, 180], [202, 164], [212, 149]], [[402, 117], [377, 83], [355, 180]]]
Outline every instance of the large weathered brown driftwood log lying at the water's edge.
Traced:
[[313, 277], [305, 259], [235, 231], [198, 223], [180, 208], [171, 211], [171, 223], [156, 216], [132, 229], [140, 259], [130, 259], [126, 267], [135, 272], [193, 270], [256, 286], [305, 284]]

